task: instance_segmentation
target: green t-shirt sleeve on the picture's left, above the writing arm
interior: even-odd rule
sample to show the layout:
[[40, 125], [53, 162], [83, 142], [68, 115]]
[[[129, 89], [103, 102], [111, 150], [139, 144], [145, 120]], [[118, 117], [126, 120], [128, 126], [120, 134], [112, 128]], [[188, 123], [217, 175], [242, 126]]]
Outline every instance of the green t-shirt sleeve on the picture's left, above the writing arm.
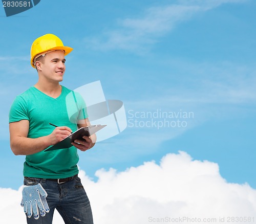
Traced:
[[9, 123], [21, 120], [29, 120], [28, 108], [25, 100], [17, 96], [13, 101], [9, 112]]

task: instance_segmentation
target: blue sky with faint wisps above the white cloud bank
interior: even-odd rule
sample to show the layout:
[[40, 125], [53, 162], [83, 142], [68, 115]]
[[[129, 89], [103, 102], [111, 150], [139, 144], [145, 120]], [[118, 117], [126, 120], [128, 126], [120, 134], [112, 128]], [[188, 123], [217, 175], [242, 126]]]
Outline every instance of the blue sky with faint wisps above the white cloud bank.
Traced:
[[[256, 188], [255, 7], [253, 0], [41, 0], [11, 17], [2, 8], [0, 187], [23, 184], [25, 158], [9, 147], [9, 107], [37, 81], [30, 65], [33, 40], [53, 33], [74, 48], [61, 84], [75, 89], [100, 80], [106, 99], [123, 101], [130, 119], [120, 135], [79, 153], [79, 167], [91, 178], [97, 180], [100, 168], [123, 171], [185, 151], [218, 163], [227, 182]], [[181, 119], [185, 127], [143, 125], [152, 121], [143, 113], [155, 111], [194, 116]]]

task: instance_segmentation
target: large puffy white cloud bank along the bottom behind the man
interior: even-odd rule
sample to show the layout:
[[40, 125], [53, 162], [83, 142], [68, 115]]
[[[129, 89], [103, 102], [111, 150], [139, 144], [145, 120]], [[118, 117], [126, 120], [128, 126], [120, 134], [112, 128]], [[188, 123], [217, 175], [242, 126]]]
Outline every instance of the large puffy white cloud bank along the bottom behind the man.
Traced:
[[[248, 184], [227, 183], [218, 164], [193, 160], [185, 152], [167, 154], [159, 165], [145, 162], [123, 172], [101, 169], [95, 175], [96, 183], [80, 170], [95, 224], [157, 223], [156, 218], [165, 217], [216, 218], [216, 222], [212, 219], [208, 223], [229, 223], [227, 219], [232, 216], [256, 218], [255, 189]], [[5, 201], [0, 207], [3, 223], [10, 223], [10, 217], [11, 223], [26, 223], [19, 207], [20, 195], [21, 189], [0, 189]], [[219, 222], [220, 217], [225, 217], [225, 222]], [[55, 220], [63, 223], [57, 215]], [[189, 223], [186, 220], [183, 222]]]

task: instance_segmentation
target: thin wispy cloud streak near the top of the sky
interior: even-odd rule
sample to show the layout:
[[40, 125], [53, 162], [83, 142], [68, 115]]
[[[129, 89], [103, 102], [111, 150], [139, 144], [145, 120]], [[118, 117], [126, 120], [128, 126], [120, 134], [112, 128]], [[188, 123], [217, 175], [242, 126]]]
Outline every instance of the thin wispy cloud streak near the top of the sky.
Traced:
[[181, 21], [222, 4], [237, 2], [244, 0], [185, 0], [179, 4], [151, 7], [137, 18], [119, 19], [119, 27], [106, 31], [102, 39], [89, 37], [85, 40], [87, 46], [96, 50], [122, 49], [141, 54], [157, 42], [157, 37], [172, 31]]

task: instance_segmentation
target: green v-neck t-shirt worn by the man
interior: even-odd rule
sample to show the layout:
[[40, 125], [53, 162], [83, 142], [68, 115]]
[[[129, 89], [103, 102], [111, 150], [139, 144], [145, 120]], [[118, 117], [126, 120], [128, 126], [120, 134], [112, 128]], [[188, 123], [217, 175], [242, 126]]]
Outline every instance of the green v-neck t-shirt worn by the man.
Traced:
[[[78, 93], [62, 86], [61, 95], [54, 99], [34, 86], [16, 97], [9, 114], [9, 123], [29, 120], [28, 138], [50, 135], [57, 126], [68, 126], [77, 130], [78, 120], [88, 117], [86, 104]], [[24, 176], [38, 178], [65, 178], [78, 173], [77, 149], [72, 146], [26, 155]]]

